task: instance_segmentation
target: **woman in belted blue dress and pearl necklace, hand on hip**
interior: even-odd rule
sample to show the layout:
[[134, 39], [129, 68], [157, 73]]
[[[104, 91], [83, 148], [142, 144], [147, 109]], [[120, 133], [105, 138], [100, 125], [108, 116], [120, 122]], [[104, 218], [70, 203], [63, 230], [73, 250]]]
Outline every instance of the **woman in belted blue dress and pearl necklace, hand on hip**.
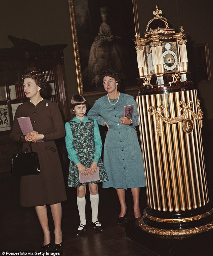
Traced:
[[[116, 189], [121, 212], [117, 223], [127, 218], [125, 190], [131, 188], [134, 202], [134, 216], [141, 216], [139, 190], [145, 186], [142, 153], [134, 126], [138, 125], [137, 106], [134, 98], [118, 92], [120, 76], [117, 71], [107, 69], [101, 73], [101, 81], [107, 95], [95, 101], [87, 116], [93, 117], [98, 124], [106, 125], [108, 132], [104, 143], [103, 163], [109, 181], [103, 188]], [[123, 117], [124, 106], [134, 105], [133, 118]]]

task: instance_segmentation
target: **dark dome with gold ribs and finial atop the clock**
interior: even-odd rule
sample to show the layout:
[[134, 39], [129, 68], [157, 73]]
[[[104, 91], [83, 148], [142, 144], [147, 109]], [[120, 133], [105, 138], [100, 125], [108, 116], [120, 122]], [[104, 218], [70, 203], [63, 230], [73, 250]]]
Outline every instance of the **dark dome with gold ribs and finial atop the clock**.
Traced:
[[159, 15], [162, 14], [162, 10], [158, 10], [158, 6], [156, 6], [156, 11], [153, 14], [156, 17], [148, 22], [146, 32], [144, 33], [145, 37], [155, 34], [175, 34], [175, 29], [171, 22]]

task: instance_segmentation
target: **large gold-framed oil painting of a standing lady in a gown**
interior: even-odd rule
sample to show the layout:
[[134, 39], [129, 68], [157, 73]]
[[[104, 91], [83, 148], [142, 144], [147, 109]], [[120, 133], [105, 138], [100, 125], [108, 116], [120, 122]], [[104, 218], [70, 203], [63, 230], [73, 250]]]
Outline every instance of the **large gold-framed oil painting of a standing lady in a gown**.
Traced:
[[69, 0], [79, 94], [104, 94], [100, 73], [116, 69], [123, 91], [137, 88], [136, 0]]

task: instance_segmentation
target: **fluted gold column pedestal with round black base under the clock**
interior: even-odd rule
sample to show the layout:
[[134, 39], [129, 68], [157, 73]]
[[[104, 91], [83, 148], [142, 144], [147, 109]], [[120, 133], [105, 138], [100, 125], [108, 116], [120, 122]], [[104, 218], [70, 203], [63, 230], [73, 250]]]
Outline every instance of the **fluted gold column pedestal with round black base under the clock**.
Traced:
[[197, 91], [191, 86], [141, 89], [136, 102], [147, 194], [140, 227], [175, 236], [213, 229]]

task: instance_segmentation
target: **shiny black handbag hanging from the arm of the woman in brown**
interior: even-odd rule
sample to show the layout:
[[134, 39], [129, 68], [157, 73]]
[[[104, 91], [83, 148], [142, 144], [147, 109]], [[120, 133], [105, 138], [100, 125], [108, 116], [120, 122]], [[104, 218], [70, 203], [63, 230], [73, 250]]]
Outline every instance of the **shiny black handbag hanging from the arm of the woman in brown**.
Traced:
[[20, 137], [18, 150], [12, 155], [12, 176], [38, 175], [40, 174], [40, 164], [38, 153], [33, 152], [31, 142], [29, 144], [31, 152], [20, 152], [22, 148], [23, 136]]

